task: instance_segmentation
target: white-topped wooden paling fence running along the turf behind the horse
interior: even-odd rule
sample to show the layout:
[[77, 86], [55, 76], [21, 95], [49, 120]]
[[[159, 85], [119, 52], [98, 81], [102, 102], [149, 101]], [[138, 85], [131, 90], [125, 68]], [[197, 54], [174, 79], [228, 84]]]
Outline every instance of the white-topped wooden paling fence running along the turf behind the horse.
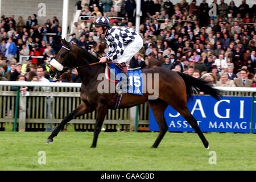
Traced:
[[[10, 86], [18, 86], [18, 90], [9, 91]], [[30, 92], [29, 96], [24, 97], [19, 93], [19, 88], [22, 86], [27, 87], [51, 87], [51, 91], [44, 92], [43, 90], [38, 90], [36, 92]], [[26, 81], [0, 81], [0, 117], [3, 115], [1, 122], [13, 122], [19, 124], [19, 131], [25, 131], [26, 123], [59, 123], [63, 118], [62, 115], [70, 113], [75, 107], [79, 105], [80, 101], [80, 88], [81, 83], [68, 83], [68, 82], [26, 82]], [[220, 89], [224, 92], [236, 92], [235, 94], [230, 94], [230, 96], [238, 96], [237, 92], [250, 93], [248, 96], [253, 96], [256, 93], [256, 88], [241, 88], [241, 87], [214, 87]], [[67, 89], [67, 90], [63, 90]], [[74, 91], [75, 90], [75, 91]], [[40, 97], [40, 98], [39, 98]], [[15, 99], [16, 98], [16, 99]], [[30, 102], [27, 102], [29, 100]], [[14, 108], [15, 102], [15, 108]], [[50, 102], [53, 102], [52, 108]], [[27, 107], [28, 103], [28, 107]], [[40, 104], [39, 104], [40, 103]], [[40, 107], [39, 107], [40, 106]], [[148, 125], [148, 106], [140, 105], [141, 109], [139, 110], [139, 121], [140, 125]], [[41, 108], [41, 109], [40, 109]], [[43, 109], [44, 108], [44, 109]], [[48, 108], [48, 109], [46, 109]], [[11, 109], [11, 111], [10, 111]], [[135, 111], [136, 107], [130, 109], [120, 109], [109, 110], [109, 115], [116, 115], [114, 117], [106, 118], [105, 124], [108, 125], [129, 125], [130, 130], [132, 127], [137, 126], [135, 123]], [[5, 115], [11, 115], [12, 118], [6, 118]], [[46, 113], [47, 112], [47, 113]], [[1, 114], [2, 113], [2, 114]], [[16, 113], [16, 114], [15, 114]], [[19, 117], [18, 117], [19, 113]], [[42, 114], [44, 113], [44, 114]], [[128, 114], [129, 113], [129, 114]], [[51, 117], [55, 115], [56, 117]], [[86, 122], [84, 119], [73, 119], [70, 123], [75, 125], [84, 125], [94, 123], [94, 115], [92, 113], [84, 116], [87, 117]], [[122, 116], [123, 115], [123, 116]], [[28, 117], [27, 117], [28, 116]], [[90, 118], [88, 118], [90, 117]], [[120, 120], [121, 119], [121, 120]], [[17, 122], [18, 121], [18, 122]]]

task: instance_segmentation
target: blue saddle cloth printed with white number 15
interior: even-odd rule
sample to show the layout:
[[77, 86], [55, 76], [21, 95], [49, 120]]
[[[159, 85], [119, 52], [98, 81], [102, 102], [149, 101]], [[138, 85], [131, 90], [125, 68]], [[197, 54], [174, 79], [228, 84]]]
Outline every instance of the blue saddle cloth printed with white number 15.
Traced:
[[[110, 75], [115, 75], [115, 80], [117, 82], [121, 81], [124, 74], [122, 72], [122, 69], [119, 68], [115, 64], [108, 64], [109, 65], [109, 70], [110, 70]], [[126, 93], [131, 93], [131, 94], [136, 94], [139, 96], [143, 95], [143, 78], [142, 78], [142, 71], [141, 69], [136, 69], [136, 70], [128, 70], [128, 92]]]

